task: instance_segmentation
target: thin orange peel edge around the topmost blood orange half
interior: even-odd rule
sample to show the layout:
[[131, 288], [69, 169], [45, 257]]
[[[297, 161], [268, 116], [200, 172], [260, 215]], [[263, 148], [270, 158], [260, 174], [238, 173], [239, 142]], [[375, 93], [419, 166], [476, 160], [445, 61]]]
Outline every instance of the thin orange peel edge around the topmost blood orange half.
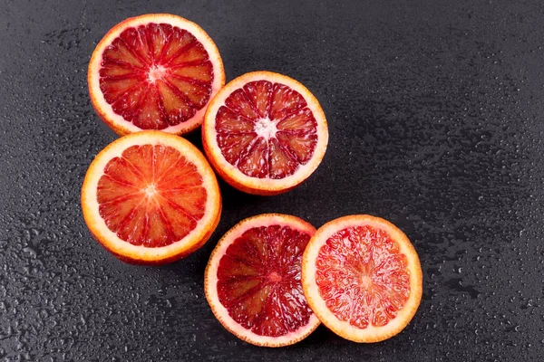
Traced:
[[[104, 112], [100, 107], [99, 107], [99, 103], [97, 101], [97, 95], [92, 91], [92, 88], [91, 88], [91, 64], [95, 61], [96, 58], [99, 58], [99, 57], [102, 57], [102, 52], [99, 53], [97, 52], [97, 50], [99, 48], [101, 48], [100, 45], [102, 45], [103, 42], [106, 41], [106, 39], [108, 38], [108, 35], [110, 33], [114, 33], [116, 31], [118, 31], [119, 29], [124, 29], [126, 24], [127, 23], [131, 23], [132, 21], [134, 20], [138, 20], [138, 19], [141, 19], [141, 18], [145, 18], [147, 17], [149, 14], [142, 14], [140, 16], [133, 16], [133, 17], [130, 17], [128, 19], [125, 19], [123, 20], [121, 23], [119, 24], [116, 24], [115, 26], [112, 27], [112, 29], [110, 29], [110, 31], [108, 31], [108, 33], [105, 33], [104, 36], [102, 37], [102, 40], [96, 45], [96, 47], [94, 48], [94, 51], [92, 52], [92, 56], [91, 56], [91, 60], [89, 61], [89, 67], [88, 67], [88, 71], [87, 71], [87, 87], [88, 87], [88, 90], [89, 90], [89, 96], [91, 98], [91, 104], [92, 104], [92, 108], [96, 111], [96, 114], [98, 115], [98, 117], [100, 117], [100, 119], [102, 119], [102, 121], [110, 128], [112, 129], [115, 133], [117, 133], [119, 136], [124, 136], [124, 135], [127, 135], [129, 133], [132, 133], [131, 130], [129, 129], [126, 129], [124, 127], [122, 127], [121, 124], [118, 124], [116, 123], [115, 121], [113, 121], [112, 119], [110, 119], [108, 117], [108, 115], [106, 114], [106, 112]], [[153, 15], [169, 15], [169, 16], [176, 16], [176, 15], [172, 15], [172, 14], [153, 14]], [[180, 16], [178, 16], [180, 17]], [[189, 21], [187, 19], [184, 19], [186, 21]], [[192, 22], [191, 22], [192, 23]], [[194, 23], [193, 23], [194, 24]], [[215, 43], [213, 43], [213, 40], [211, 40], [211, 38], [209, 37], [208, 33], [204, 32], [204, 30], [198, 25], [198, 24], [195, 24], [201, 31], [202, 31], [202, 36], [204, 36], [206, 38], [206, 40], [212, 44], [214, 47], [217, 48], [217, 46], [215, 45]], [[214, 74], [214, 77], [216, 76], [219, 76], [219, 79], [221, 80], [220, 81], [220, 84], [221, 84], [221, 88], [225, 85], [225, 81], [226, 81], [226, 77], [225, 77], [225, 68], [223, 66], [223, 60], [221, 58], [221, 56], [219, 55], [219, 51], [218, 51], [218, 56], [219, 56], [219, 68], [220, 68], [220, 73], [219, 74]], [[209, 102], [208, 102], [209, 104]], [[208, 104], [204, 107], [208, 107]], [[189, 119], [187, 119], [189, 120]], [[191, 133], [193, 132], [195, 129], [198, 129], [200, 127], [200, 125], [202, 124], [202, 121], [204, 120], [204, 115], [202, 115], [201, 119], [199, 119], [199, 121], [197, 123], [195, 123], [192, 127], [190, 127], [189, 129], [181, 129], [179, 132], [175, 133], [177, 135], [184, 135], [184, 134], [188, 134], [188, 133]], [[141, 129], [141, 130], [147, 130], [147, 129]], [[151, 129], [150, 129], [151, 130]]]

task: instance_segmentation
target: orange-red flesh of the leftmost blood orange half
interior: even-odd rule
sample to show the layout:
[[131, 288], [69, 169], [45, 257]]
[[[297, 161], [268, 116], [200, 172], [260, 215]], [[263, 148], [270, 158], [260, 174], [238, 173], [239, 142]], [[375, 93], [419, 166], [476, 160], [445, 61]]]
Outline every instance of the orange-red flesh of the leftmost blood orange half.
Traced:
[[168, 146], [131, 146], [104, 167], [99, 212], [122, 240], [146, 247], [180, 241], [205, 213], [197, 167]]

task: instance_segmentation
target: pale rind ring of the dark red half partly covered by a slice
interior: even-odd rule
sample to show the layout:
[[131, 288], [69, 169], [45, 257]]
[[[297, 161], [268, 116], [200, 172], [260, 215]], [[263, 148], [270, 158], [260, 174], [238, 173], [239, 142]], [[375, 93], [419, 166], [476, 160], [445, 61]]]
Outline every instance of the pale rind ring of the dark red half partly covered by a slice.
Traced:
[[204, 289], [206, 291], [206, 298], [208, 299], [209, 304], [212, 307], [211, 309], [213, 310], [216, 318], [219, 319], [220, 323], [231, 333], [234, 333], [239, 338], [245, 338], [247, 342], [258, 346], [277, 347], [295, 343], [300, 340], [300, 337], [304, 337], [306, 336], [306, 334], [309, 334], [311, 331], [316, 329], [317, 326], [320, 324], [320, 321], [319, 319], [317, 319], [316, 314], [312, 313], [306, 326], [297, 329], [295, 332], [288, 333], [285, 336], [260, 336], [251, 331], [250, 329], [245, 329], [244, 327], [239, 325], [236, 320], [232, 319], [228, 314], [228, 310], [219, 301], [219, 296], [217, 293], [217, 271], [219, 267], [219, 262], [227, 251], [228, 246], [233, 243], [242, 233], [245, 233], [248, 229], [270, 225], [289, 226], [291, 228], [295, 228], [306, 233], [315, 232], [315, 228], [313, 226], [307, 224], [306, 222], [295, 216], [290, 215], [261, 214], [241, 221], [240, 223], [232, 227], [232, 229], [230, 229], [221, 238], [218, 245], [211, 253], [211, 257], [209, 259], [208, 267], [206, 268], [204, 277]]

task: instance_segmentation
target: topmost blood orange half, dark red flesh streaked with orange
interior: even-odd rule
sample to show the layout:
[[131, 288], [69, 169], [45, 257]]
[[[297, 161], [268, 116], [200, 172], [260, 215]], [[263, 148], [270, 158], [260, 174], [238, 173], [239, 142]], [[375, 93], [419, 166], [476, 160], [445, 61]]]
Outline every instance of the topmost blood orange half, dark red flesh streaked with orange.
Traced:
[[92, 106], [120, 135], [199, 127], [225, 84], [218, 48], [197, 24], [171, 14], [144, 14], [115, 25], [92, 52]]

